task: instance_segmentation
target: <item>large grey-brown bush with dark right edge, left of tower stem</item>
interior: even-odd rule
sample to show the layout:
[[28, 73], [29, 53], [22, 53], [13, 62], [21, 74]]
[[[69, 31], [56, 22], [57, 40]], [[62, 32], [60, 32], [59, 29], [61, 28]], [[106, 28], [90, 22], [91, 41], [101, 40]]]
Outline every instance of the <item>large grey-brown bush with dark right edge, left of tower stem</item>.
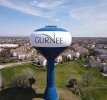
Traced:
[[35, 83], [35, 74], [31, 69], [26, 69], [16, 75], [11, 81], [11, 87], [29, 88]]

